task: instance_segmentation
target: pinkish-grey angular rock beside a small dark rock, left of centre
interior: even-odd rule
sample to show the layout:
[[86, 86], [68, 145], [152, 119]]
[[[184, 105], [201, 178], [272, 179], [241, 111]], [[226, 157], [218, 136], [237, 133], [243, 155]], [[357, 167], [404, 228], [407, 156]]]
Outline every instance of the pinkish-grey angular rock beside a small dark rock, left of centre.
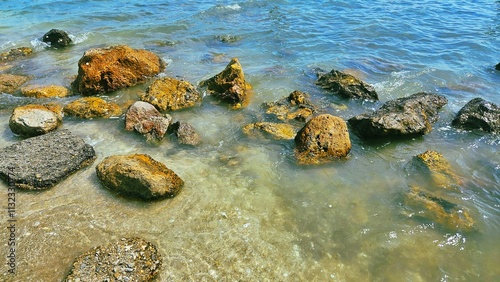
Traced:
[[137, 101], [125, 115], [125, 129], [136, 130], [150, 141], [160, 141], [172, 122], [170, 115], [163, 116], [153, 105]]

